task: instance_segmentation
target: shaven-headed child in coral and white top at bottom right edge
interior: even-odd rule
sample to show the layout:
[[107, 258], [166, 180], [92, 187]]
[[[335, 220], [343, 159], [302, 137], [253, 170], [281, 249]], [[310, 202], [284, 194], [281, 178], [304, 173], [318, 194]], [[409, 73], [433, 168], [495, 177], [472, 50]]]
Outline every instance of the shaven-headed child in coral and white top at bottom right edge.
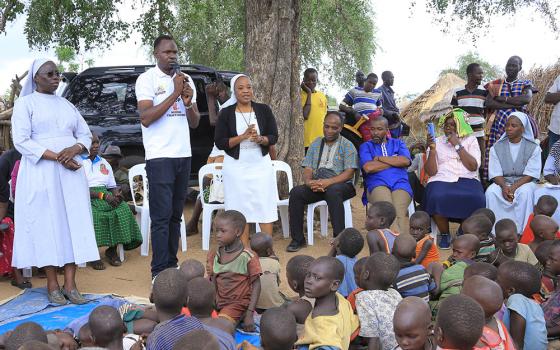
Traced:
[[484, 310], [486, 323], [475, 348], [515, 350], [506, 326], [495, 317], [504, 303], [500, 286], [486, 277], [472, 276], [465, 278], [461, 294], [473, 298]]

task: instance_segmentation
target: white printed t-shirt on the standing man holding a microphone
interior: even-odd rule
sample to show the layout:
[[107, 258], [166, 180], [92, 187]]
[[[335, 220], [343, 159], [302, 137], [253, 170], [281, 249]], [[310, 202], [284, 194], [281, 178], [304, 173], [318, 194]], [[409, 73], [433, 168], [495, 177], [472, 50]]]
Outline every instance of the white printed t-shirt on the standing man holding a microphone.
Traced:
[[[192, 78], [185, 75], [193, 89], [192, 102], [195, 103], [196, 87]], [[154, 106], [162, 103], [173, 90], [173, 77], [162, 72], [157, 66], [142, 73], [136, 80], [136, 99], [152, 101]], [[181, 96], [177, 97], [177, 101], [167, 112], [149, 127], [142, 125], [142, 139], [146, 160], [192, 156], [187, 110]]]

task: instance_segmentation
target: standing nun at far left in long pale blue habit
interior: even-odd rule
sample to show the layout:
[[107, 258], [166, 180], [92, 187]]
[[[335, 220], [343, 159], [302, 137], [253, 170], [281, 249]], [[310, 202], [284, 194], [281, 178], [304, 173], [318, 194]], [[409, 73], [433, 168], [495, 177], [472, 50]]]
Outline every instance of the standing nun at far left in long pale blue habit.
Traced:
[[[12, 136], [22, 154], [15, 198], [12, 265], [44, 267], [49, 301], [83, 304], [76, 264], [99, 259], [80, 154], [87, 154], [91, 133], [78, 110], [54, 93], [60, 83], [56, 65], [35, 60], [17, 99]], [[56, 267], [64, 267], [59, 286]]]

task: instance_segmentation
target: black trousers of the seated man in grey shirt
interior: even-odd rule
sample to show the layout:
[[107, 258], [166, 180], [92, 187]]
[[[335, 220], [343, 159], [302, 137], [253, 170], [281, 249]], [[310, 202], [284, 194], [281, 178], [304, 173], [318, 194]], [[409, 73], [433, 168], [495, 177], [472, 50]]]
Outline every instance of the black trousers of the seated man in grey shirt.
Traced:
[[354, 186], [350, 183], [334, 184], [325, 192], [313, 192], [306, 185], [292, 188], [290, 191], [290, 234], [298, 243], [305, 243], [303, 236], [303, 211], [308, 204], [326, 201], [329, 206], [329, 215], [336, 237], [344, 230], [344, 205], [343, 202], [356, 195]]

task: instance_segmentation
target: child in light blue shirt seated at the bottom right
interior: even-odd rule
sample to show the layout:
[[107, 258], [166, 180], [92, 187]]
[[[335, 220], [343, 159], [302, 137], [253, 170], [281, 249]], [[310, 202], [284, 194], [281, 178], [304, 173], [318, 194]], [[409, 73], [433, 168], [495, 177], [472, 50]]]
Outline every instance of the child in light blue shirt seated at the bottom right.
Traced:
[[544, 313], [532, 299], [539, 292], [541, 273], [529, 263], [509, 260], [498, 268], [498, 284], [508, 308], [504, 323], [515, 343], [527, 350], [546, 349]]

